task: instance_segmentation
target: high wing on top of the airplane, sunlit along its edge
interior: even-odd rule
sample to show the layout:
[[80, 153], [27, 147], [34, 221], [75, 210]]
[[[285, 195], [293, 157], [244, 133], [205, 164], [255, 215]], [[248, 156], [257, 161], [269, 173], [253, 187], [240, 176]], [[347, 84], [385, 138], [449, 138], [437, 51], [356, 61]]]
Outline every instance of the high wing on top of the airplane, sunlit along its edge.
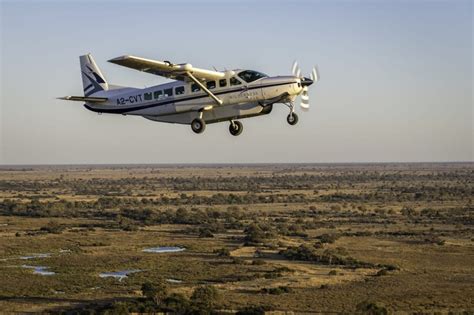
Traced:
[[110, 59], [109, 62], [135, 70], [159, 75], [181, 81], [194, 81], [189, 74], [201, 81], [224, 78], [224, 72], [195, 68], [189, 63], [173, 64], [169, 61], [158, 61], [130, 55]]

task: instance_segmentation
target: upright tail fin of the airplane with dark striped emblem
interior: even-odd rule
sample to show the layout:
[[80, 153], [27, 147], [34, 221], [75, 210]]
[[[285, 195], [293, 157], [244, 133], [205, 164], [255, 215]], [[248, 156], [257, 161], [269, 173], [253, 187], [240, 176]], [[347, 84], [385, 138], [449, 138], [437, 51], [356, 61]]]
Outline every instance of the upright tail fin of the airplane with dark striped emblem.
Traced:
[[104, 75], [100, 72], [91, 54], [80, 56], [82, 85], [84, 96], [89, 96], [99, 91], [107, 91], [109, 84], [105, 81]]

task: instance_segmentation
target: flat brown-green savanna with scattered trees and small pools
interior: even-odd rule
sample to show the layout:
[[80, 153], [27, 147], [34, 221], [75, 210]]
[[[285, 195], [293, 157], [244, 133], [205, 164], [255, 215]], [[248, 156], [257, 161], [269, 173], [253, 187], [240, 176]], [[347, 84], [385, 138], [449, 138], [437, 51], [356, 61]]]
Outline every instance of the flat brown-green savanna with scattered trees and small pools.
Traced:
[[0, 309], [474, 312], [474, 163], [0, 168]]

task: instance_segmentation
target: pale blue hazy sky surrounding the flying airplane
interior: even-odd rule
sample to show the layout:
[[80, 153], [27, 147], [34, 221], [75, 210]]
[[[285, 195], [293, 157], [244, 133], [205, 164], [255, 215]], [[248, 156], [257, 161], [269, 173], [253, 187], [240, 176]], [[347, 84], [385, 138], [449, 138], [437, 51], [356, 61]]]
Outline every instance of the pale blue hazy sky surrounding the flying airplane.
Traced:
[[[473, 161], [472, 1], [2, 1], [0, 164]], [[79, 55], [109, 83], [168, 82], [107, 60], [289, 75], [317, 65], [311, 109], [203, 134], [90, 112]], [[299, 103], [299, 100], [297, 101]]]

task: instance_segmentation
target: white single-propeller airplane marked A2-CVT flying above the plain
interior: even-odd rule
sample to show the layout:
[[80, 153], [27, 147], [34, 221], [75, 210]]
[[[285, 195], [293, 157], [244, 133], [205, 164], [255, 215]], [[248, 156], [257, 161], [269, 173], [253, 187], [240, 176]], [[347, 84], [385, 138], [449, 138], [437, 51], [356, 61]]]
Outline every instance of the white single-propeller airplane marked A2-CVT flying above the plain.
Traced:
[[276, 103], [288, 106], [286, 120], [295, 125], [298, 122], [295, 99], [301, 95], [301, 108], [308, 110], [308, 87], [319, 79], [316, 67], [310, 78], [301, 76], [296, 61], [293, 75], [269, 77], [254, 70], [206, 70], [189, 63], [175, 64], [131, 55], [109, 60], [174, 80], [140, 89], [109, 84], [91, 54], [80, 56], [79, 60], [84, 96], [59, 99], [84, 102], [88, 110], [97, 113], [138, 115], [157, 122], [191, 125], [195, 133], [202, 133], [206, 124], [228, 121], [229, 132], [238, 136], [243, 125], [237, 119], [267, 115]]

